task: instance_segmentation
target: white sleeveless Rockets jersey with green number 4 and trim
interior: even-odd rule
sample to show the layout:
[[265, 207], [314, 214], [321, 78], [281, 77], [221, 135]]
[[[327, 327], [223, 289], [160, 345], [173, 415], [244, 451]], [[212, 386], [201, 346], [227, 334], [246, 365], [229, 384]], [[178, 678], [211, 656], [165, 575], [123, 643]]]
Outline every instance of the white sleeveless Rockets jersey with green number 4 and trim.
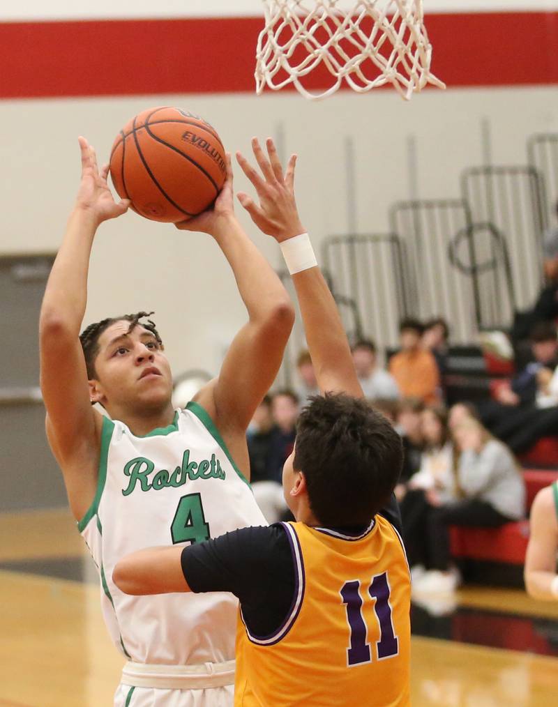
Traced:
[[78, 527], [100, 573], [105, 623], [129, 660], [197, 665], [234, 658], [236, 597], [132, 597], [112, 582], [112, 570], [145, 547], [202, 542], [248, 525], [267, 523], [199, 404], [145, 437], [104, 419], [98, 489]]

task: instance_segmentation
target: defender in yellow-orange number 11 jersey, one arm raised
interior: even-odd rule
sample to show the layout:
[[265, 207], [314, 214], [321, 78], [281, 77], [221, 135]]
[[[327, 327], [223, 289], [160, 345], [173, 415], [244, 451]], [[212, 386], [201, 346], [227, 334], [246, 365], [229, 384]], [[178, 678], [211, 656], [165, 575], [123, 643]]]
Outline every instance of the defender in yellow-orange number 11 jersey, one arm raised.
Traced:
[[283, 469], [296, 522], [141, 550], [112, 576], [127, 594], [239, 598], [236, 707], [408, 707], [410, 579], [393, 497], [401, 440], [364, 399], [335, 300], [298, 219], [292, 158], [283, 177], [272, 141], [269, 159], [257, 141], [253, 147], [263, 176], [239, 161], [260, 205], [240, 199], [281, 244], [320, 388], [303, 409]]

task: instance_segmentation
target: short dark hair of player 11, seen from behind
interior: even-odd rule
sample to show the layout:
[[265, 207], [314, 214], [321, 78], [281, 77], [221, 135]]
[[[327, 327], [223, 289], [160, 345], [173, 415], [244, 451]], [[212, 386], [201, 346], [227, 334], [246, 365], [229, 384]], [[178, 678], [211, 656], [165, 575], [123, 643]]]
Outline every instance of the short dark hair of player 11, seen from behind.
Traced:
[[365, 525], [399, 480], [401, 438], [365, 399], [326, 393], [310, 401], [298, 419], [293, 460], [310, 508], [323, 525]]

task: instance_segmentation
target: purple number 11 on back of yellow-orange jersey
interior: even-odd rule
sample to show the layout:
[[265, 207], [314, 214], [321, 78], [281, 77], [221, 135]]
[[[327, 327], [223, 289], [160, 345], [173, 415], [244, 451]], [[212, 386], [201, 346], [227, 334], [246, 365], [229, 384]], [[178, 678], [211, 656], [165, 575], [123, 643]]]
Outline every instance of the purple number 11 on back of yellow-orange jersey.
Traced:
[[[344, 583], [340, 592], [343, 603], [347, 605], [347, 623], [349, 624], [349, 648], [347, 665], [361, 665], [371, 662], [370, 644], [366, 643], [367, 629], [362, 616], [361, 583], [350, 580]], [[368, 588], [374, 600], [374, 612], [380, 624], [380, 640], [376, 643], [378, 660], [393, 658], [399, 652], [399, 642], [393, 630], [390, 607], [390, 585], [388, 573], [376, 575]]]

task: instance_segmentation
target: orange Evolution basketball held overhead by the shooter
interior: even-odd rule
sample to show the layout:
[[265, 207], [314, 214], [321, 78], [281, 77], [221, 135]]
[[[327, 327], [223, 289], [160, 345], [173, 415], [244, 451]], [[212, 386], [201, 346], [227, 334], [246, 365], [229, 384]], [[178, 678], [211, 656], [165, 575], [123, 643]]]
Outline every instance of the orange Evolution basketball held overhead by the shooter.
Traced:
[[225, 149], [215, 129], [174, 107], [149, 108], [127, 122], [110, 153], [121, 199], [152, 221], [178, 223], [207, 209], [226, 178]]

